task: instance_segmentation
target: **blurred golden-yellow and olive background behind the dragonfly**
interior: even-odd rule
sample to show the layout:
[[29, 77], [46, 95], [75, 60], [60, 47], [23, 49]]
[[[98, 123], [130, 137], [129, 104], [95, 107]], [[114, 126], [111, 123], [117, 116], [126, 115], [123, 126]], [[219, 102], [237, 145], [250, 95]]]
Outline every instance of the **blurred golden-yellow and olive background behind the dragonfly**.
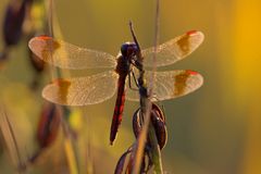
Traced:
[[[132, 40], [128, 29], [132, 20], [141, 48], [153, 45], [156, 2], [152, 0], [54, 2], [63, 39], [71, 44], [116, 55], [120, 46]], [[165, 0], [160, 3], [160, 42], [191, 29], [201, 30], [206, 36], [202, 46], [188, 59], [164, 69], [191, 69], [204, 77], [203, 86], [196, 92], [162, 102], [169, 130], [169, 140], [162, 151], [164, 171], [173, 174], [260, 174], [261, 1]], [[1, 0], [1, 28], [8, 0]], [[2, 46], [0, 41], [0, 48]], [[0, 72], [0, 101], [12, 115], [24, 156], [37, 148], [35, 132], [44, 102], [40, 89], [50, 80], [47, 72], [42, 87], [35, 92], [29, 90], [34, 71], [26, 47], [25, 40], [13, 47]], [[86, 158], [91, 153], [96, 173], [113, 173], [117, 159], [135, 140], [132, 114], [138, 104], [127, 101], [116, 142], [109, 146], [114, 102], [115, 97], [100, 104], [73, 108], [84, 113], [73, 121], [79, 136], [88, 137], [79, 147], [86, 147], [86, 141], [91, 144], [78, 154]], [[57, 142], [48, 151], [28, 173], [54, 171], [51, 167], [54, 162], [48, 161], [62, 158], [64, 152]], [[59, 157], [52, 158], [53, 154]], [[60, 171], [53, 173], [63, 173], [62, 163], [64, 159], [55, 163]], [[80, 167], [87, 166], [83, 162]], [[15, 171], [3, 144], [0, 145], [0, 173]]]

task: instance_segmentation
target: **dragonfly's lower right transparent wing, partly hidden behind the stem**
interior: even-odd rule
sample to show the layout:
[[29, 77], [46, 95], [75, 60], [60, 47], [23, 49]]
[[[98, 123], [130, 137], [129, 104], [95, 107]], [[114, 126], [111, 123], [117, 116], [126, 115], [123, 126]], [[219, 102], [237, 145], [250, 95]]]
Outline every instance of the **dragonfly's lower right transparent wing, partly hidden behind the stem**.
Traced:
[[[150, 71], [146, 72], [147, 85], [151, 82]], [[157, 72], [152, 101], [167, 100], [188, 95], [198, 89], [203, 84], [203, 77], [190, 70], [176, 70]], [[126, 98], [132, 101], [139, 100], [138, 91], [128, 88]]]

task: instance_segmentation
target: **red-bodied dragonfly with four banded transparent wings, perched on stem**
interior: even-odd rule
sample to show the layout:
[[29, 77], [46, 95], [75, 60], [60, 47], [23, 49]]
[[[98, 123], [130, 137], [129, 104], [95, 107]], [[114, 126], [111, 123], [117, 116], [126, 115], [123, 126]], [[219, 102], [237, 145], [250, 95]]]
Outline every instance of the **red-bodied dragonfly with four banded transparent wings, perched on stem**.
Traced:
[[[203, 41], [203, 34], [190, 30], [177, 36], [157, 49], [157, 66], [166, 66], [183, 60], [194, 52]], [[139, 48], [135, 42], [125, 42], [117, 57], [94, 49], [80, 48], [64, 40], [49, 36], [34, 37], [28, 42], [29, 49], [41, 60], [60, 69], [110, 69], [101, 73], [57, 78], [42, 89], [42, 97], [63, 105], [89, 105], [117, 97], [111, 125], [110, 142], [113, 144], [122, 122], [125, 98], [139, 101], [138, 90], [133, 90], [135, 61]], [[153, 66], [154, 48], [141, 50], [145, 67]], [[145, 72], [145, 79], [150, 80], [152, 72]], [[154, 73], [152, 101], [161, 101], [185, 96], [203, 84], [203, 77], [195, 71], [174, 70]], [[128, 82], [128, 85], [125, 85]], [[135, 82], [135, 80], [133, 80]]]

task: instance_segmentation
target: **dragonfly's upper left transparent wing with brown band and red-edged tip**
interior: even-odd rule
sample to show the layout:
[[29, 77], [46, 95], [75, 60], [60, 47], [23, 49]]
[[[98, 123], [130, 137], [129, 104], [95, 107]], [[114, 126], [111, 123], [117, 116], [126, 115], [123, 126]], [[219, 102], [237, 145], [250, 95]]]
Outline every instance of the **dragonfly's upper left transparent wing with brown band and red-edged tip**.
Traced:
[[28, 44], [30, 50], [45, 62], [62, 69], [114, 67], [115, 57], [90, 49], [79, 48], [51, 37], [34, 37]]

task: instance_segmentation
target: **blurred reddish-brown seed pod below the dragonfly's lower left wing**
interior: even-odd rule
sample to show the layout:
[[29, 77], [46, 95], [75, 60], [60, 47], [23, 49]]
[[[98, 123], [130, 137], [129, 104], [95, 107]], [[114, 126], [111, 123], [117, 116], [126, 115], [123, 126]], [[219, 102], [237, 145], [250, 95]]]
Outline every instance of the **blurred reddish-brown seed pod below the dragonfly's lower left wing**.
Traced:
[[50, 146], [57, 138], [60, 127], [61, 109], [53, 104], [44, 105], [37, 130], [37, 140], [40, 148]]

